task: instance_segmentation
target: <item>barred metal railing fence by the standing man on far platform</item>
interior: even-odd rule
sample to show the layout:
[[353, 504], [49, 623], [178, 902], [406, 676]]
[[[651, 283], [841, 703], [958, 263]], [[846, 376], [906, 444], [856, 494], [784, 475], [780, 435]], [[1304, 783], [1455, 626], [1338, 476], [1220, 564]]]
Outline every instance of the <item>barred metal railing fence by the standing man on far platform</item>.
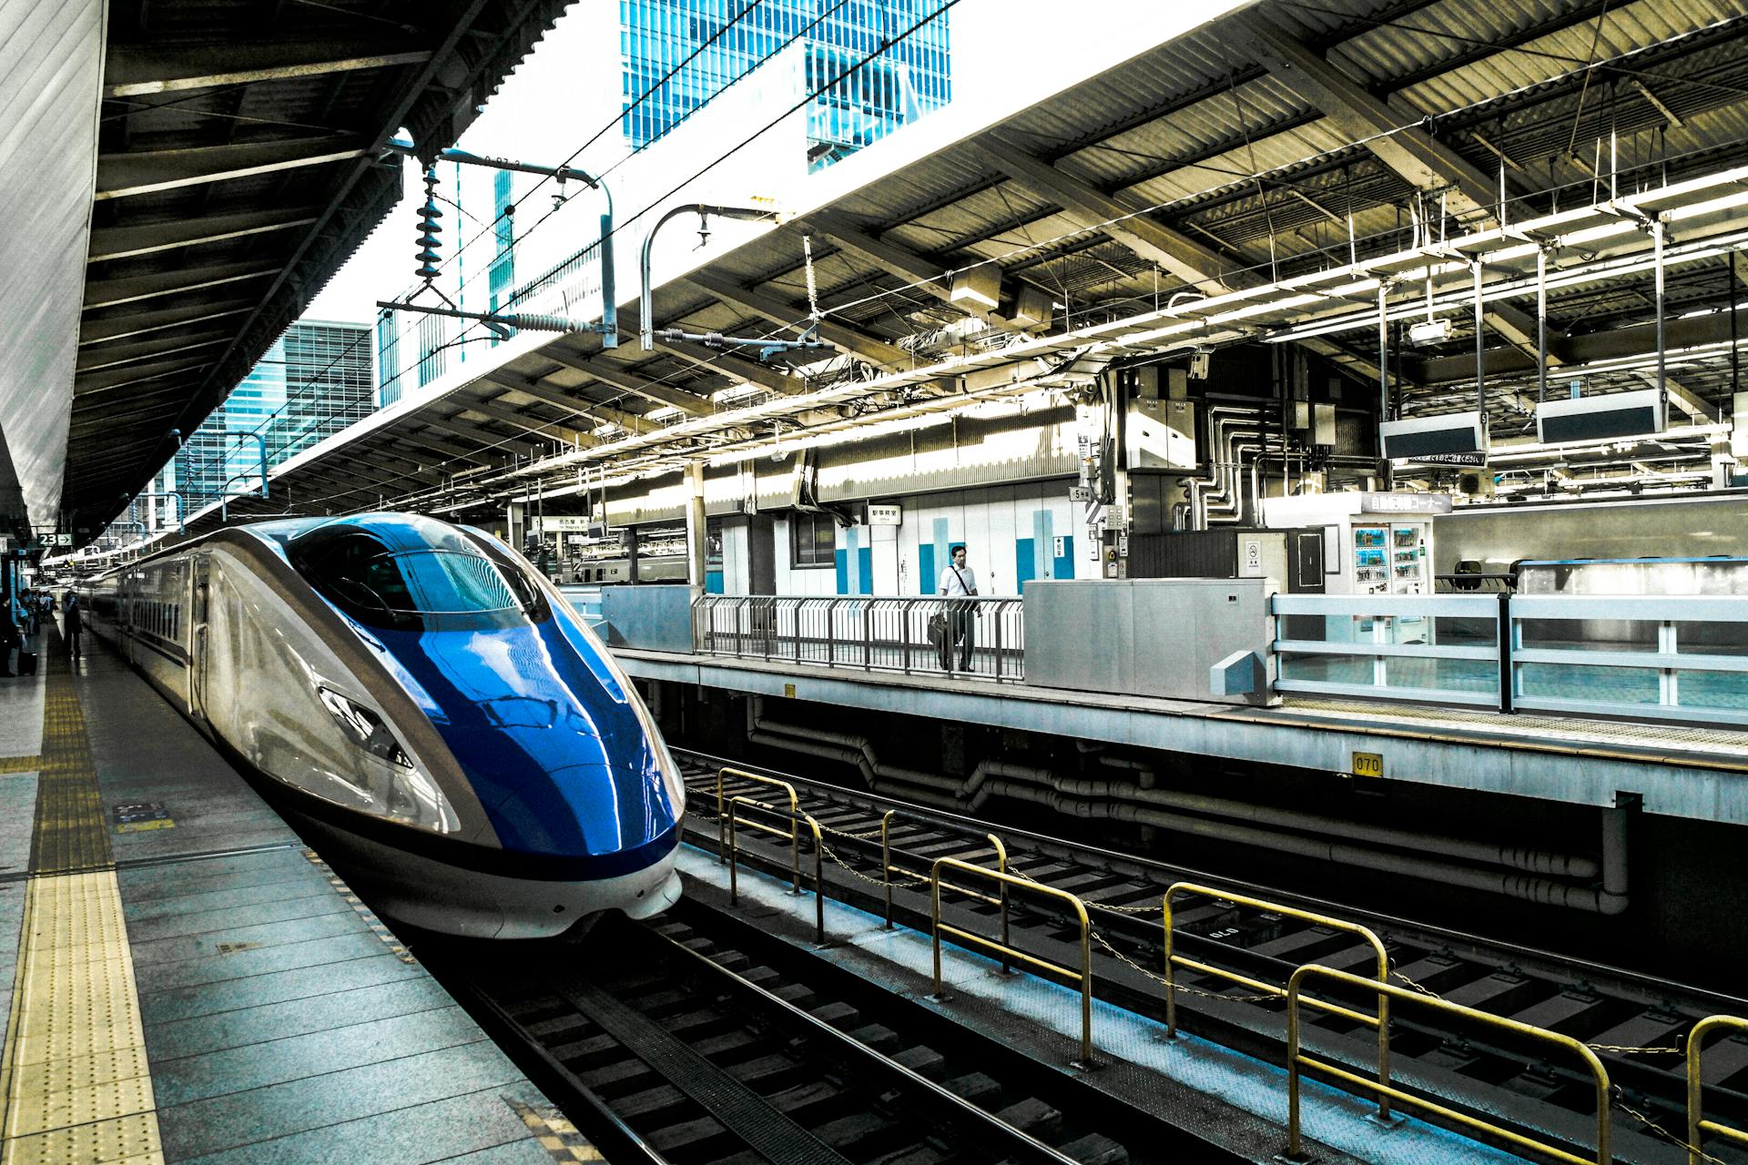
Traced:
[[692, 641], [704, 655], [912, 674], [1026, 678], [1021, 599], [703, 596]]

